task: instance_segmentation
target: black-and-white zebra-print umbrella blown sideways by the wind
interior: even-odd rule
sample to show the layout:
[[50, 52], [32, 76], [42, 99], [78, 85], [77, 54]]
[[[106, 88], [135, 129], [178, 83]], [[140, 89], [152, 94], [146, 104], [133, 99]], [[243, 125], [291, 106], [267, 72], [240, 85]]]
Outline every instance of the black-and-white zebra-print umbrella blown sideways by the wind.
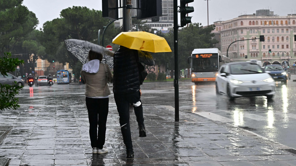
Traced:
[[65, 40], [66, 48], [70, 51], [82, 64], [88, 62], [88, 52], [92, 50], [103, 54], [102, 63], [108, 64], [113, 69], [113, 51], [106, 49], [101, 45], [96, 45], [88, 41], [78, 39]]

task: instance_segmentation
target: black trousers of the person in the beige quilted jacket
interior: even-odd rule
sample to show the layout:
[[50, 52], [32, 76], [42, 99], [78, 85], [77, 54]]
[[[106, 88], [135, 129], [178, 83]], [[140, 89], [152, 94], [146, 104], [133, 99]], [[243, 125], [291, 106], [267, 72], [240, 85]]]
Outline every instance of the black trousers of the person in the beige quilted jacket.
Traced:
[[85, 101], [88, 110], [89, 136], [92, 148], [102, 149], [106, 137], [109, 98], [86, 97]]

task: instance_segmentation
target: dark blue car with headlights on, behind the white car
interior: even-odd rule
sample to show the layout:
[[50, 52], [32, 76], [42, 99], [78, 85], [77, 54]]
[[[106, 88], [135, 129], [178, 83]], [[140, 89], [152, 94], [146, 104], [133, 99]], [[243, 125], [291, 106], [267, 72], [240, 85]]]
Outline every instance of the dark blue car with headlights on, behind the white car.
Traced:
[[268, 71], [270, 76], [275, 81], [280, 81], [284, 84], [287, 84], [287, 80], [288, 80], [287, 69], [284, 69], [280, 64], [266, 65], [264, 70]]

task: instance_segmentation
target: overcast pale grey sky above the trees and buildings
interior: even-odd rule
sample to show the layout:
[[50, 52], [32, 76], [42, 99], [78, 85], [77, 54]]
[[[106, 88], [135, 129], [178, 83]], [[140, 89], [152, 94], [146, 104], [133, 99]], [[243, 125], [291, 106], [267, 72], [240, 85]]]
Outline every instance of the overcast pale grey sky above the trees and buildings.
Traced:
[[[209, 24], [219, 20], [230, 20], [242, 14], [253, 14], [258, 9], [271, 9], [279, 16], [296, 13], [296, 0], [209, 0], [208, 4]], [[23, 5], [36, 14], [40, 22], [37, 29], [42, 28], [46, 21], [59, 18], [60, 12], [68, 7], [86, 6], [90, 9], [102, 10], [101, 0], [24, 0]], [[194, 12], [189, 13], [189, 16], [192, 16], [192, 22], [200, 22], [203, 26], [208, 25], [207, 1], [195, 0], [189, 3], [189, 6], [194, 7]]]

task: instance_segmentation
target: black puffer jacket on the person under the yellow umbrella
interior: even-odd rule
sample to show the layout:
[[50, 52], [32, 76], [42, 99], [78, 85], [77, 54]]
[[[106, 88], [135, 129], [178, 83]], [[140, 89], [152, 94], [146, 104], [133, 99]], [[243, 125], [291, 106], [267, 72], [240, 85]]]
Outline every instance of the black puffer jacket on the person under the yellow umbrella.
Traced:
[[120, 46], [114, 54], [113, 93], [132, 93], [140, 89], [137, 51]]

